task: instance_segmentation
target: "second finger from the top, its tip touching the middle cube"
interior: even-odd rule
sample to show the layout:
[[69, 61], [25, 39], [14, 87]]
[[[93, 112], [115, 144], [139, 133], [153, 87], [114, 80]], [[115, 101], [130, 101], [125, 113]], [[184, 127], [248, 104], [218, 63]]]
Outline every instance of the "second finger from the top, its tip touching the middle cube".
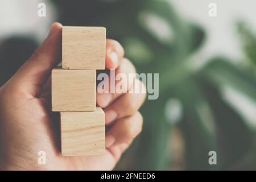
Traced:
[[[98, 93], [97, 92], [97, 105], [100, 107], [105, 108], [106, 106], [108, 106], [110, 103], [112, 103], [116, 98], [118, 98], [119, 96], [121, 96], [123, 94], [123, 92], [115, 92], [115, 93], [111, 93], [111, 89], [112, 86], [118, 85], [118, 87], [124, 86], [124, 88], [122, 89], [124, 92], [127, 92], [127, 90], [129, 90], [131, 88], [131, 86], [133, 86], [135, 79], [129, 79], [127, 80], [127, 78], [129, 78], [129, 74], [130, 73], [135, 73], [136, 69], [134, 68], [134, 65], [127, 59], [123, 58], [122, 61], [119, 64], [119, 67], [115, 70], [115, 75], [114, 77], [114, 83], [112, 82], [111, 79], [112, 76], [109, 75], [109, 90], [108, 93]], [[111, 73], [110, 73], [111, 74]], [[122, 80], [120, 78], [120, 80], [115, 79], [117, 76], [122, 76], [123, 78], [125, 78], [125, 80]], [[114, 90], [116, 91], [116, 90]]]

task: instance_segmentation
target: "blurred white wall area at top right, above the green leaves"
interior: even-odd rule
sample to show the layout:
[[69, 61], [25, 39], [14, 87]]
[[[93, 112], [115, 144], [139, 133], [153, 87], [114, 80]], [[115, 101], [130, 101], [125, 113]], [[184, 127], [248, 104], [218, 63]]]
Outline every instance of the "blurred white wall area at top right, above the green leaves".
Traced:
[[[168, 0], [185, 19], [201, 24], [207, 32], [207, 43], [196, 55], [203, 62], [216, 54], [226, 55], [233, 60], [242, 57], [236, 20], [243, 19], [256, 30], [255, 0]], [[209, 17], [209, 3], [216, 3], [217, 17]], [[255, 31], [256, 32], [256, 31]]]

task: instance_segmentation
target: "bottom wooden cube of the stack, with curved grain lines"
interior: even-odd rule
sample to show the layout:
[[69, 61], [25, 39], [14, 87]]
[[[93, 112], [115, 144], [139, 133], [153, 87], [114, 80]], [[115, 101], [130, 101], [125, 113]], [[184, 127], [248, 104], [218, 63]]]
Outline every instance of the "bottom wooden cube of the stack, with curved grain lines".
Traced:
[[90, 112], [61, 112], [60, 121], [63, 156], [105, 152], [105, 114], [100, 107]]

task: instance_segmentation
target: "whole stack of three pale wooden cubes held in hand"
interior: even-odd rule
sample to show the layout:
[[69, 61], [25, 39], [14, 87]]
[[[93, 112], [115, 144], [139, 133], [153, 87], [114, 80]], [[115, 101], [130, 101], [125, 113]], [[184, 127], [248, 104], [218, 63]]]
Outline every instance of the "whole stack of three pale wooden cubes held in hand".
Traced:
[[96, 107], [96, 69], [105, 69], [106, 28], [63, 27], [62, 68], [52, 70], [52, 111], [60, 112], [64, 156], [105, 151], [105, 115]]

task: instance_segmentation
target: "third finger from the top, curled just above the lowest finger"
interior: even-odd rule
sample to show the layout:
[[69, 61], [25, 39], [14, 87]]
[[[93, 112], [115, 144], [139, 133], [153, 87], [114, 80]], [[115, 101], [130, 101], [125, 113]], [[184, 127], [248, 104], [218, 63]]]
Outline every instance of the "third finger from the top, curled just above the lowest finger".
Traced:
[[140, 93], [123, 94], [104, 110], [106, 125], [111, 124], [117, 119], [135, 114], [142, 106], [146, 98], [146, 88], [139, 80], [135, 80], [135, 85], [139, 85], [142, 88]]

